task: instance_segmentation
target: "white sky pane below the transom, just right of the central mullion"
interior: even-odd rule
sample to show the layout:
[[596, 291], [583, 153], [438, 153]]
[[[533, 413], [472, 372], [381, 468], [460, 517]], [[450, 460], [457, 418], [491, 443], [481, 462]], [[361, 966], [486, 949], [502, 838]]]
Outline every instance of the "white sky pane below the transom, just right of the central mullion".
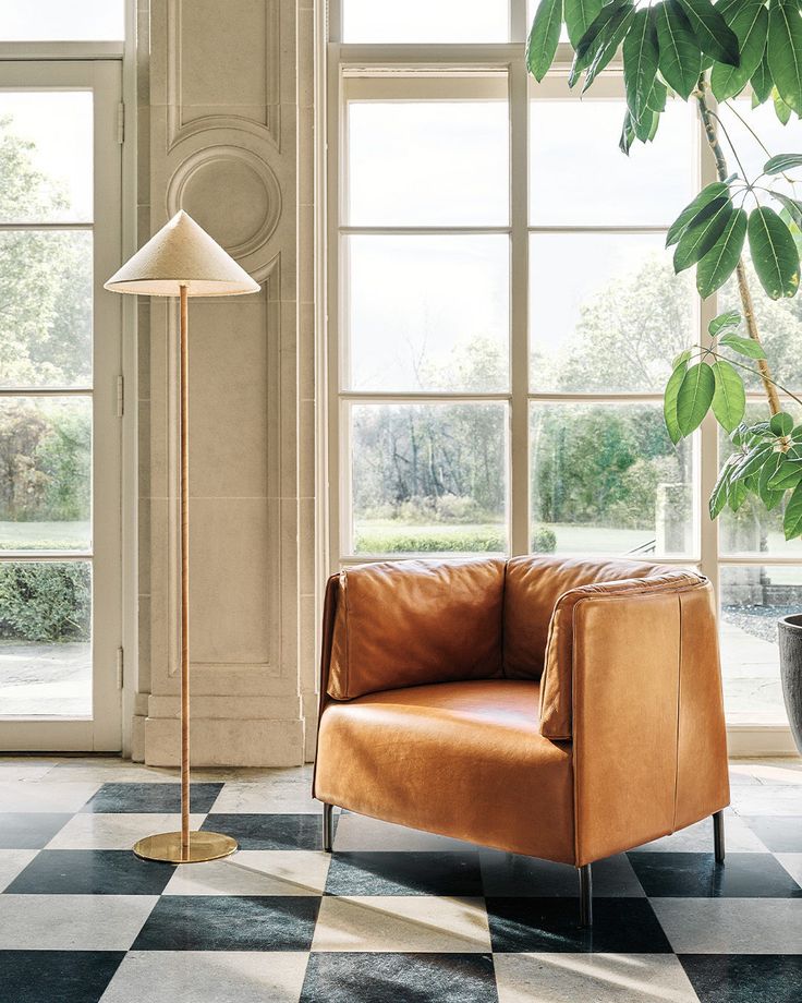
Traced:
[[618, 148], [622, 100], [530, 102], [535, 226], [668, 226], [694, 196], [692, 110], [669, 105], [654, 143]]

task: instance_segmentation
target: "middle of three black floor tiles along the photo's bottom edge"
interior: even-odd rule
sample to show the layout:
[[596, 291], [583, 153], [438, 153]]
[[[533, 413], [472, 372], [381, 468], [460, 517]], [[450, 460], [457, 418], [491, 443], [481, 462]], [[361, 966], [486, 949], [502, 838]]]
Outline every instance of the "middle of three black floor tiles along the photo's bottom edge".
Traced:
[[497, 1003], [489, 954], [319, 953], [301, 1003]]

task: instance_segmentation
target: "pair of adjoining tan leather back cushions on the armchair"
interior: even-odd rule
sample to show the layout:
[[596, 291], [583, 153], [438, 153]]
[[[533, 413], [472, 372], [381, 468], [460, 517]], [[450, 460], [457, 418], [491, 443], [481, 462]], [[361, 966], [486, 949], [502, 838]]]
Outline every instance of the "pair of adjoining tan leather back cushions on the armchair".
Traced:
[[324, 639], [326, 691], [335, 700], [353, 700], [430, 682], [538, 680], [555, 611], [558, 603], [570, 605], [572, 590], [666, 572], [675, 569], [539, 556], [349, 568], [331, 583], [336, 609]]

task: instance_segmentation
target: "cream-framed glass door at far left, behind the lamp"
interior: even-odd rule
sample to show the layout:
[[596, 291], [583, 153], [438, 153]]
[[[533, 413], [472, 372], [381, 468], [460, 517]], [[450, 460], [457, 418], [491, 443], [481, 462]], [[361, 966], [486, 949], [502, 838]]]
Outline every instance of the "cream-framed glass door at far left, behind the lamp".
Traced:
[[0, 749], [118, 750], [119, 62], [0, 64]]

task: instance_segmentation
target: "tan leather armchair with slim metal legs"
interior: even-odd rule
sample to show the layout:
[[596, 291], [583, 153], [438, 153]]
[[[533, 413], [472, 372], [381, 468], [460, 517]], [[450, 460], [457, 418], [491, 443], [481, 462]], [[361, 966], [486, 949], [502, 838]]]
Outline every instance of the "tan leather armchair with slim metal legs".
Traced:
[[363, 565], [329, 579], [314, 794], [580, 869], [729, 803], [713, 589], [631, 560]]

